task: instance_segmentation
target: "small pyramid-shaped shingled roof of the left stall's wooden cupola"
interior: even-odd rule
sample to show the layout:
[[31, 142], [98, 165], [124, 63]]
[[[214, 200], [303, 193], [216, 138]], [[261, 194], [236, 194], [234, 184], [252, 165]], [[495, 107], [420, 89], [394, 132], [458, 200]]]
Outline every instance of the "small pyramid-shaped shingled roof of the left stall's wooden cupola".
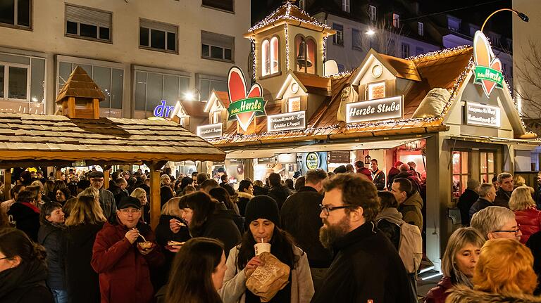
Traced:
[[101, 91], [94, 80], [79, 65], [75, 67], [66, 84], [62, 86], [58, 98], [56, 98], [56, 103], [61, 103], [66, 97], [95, 98], [99, 99], [99, 101], [105, 100], [104, 92]]

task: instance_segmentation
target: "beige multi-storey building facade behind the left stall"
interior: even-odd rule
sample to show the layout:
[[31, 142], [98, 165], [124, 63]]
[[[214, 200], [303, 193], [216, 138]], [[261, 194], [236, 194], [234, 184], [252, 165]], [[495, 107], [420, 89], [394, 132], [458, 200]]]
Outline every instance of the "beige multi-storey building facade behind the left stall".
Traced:
[[249, 0], [1, 4], [0, 112], [56, 112], [77, 65], [106, 95], [101, 116], [125, 118], [151, 117], [185, 92], [205, 101], [227, 89], [232, 65], [248, 67]]

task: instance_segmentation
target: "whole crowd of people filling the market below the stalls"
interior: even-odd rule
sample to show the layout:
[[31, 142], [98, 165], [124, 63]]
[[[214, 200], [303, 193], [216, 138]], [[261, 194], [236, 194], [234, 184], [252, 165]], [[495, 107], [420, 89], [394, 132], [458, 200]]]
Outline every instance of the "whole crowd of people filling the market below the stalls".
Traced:
[[[413, 162], [271, 173], [237, 190], [226, 174], [166, 168], [154, 230], [147, 174], [113, 172], [108, 188], [96, 170], [60, 176], [24, 171], [1, 204], [0, 302], [541, 302], [541, 193], [511, 174], [468, 181], [464, 227], [425, 297], [426, 178]], [[269, 266], [288, 269], [279, 286]]]

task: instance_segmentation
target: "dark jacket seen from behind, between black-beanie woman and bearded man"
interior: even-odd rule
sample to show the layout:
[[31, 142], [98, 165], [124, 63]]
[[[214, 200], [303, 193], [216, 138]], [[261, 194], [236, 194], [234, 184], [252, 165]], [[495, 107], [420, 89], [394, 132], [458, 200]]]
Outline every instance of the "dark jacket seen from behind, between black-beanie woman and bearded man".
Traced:
[[315, 188], [301, 186], [285, 200], [280, 211], [280, 227], [306, 252], [310, 266], [317, 268], [327, 268], [332, 262], [332, 253], [319, 241], [319, 228], [323, 226], [319, 217], [322, 200], [323, 195]]

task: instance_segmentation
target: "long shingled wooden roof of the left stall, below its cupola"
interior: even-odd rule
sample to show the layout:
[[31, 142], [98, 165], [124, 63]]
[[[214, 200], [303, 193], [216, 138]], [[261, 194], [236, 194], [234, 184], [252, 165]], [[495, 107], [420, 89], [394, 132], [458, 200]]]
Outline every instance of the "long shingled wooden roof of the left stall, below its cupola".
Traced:
[[223, 161], [225, 153], [172, 121], [0, 113], [0, 166], [18, 162]]

